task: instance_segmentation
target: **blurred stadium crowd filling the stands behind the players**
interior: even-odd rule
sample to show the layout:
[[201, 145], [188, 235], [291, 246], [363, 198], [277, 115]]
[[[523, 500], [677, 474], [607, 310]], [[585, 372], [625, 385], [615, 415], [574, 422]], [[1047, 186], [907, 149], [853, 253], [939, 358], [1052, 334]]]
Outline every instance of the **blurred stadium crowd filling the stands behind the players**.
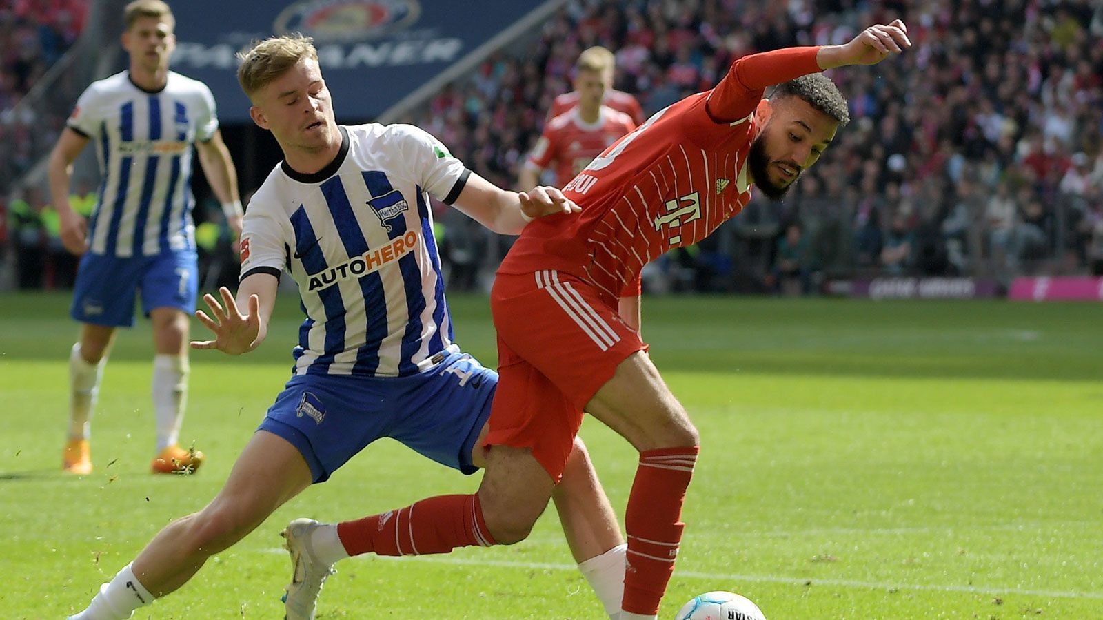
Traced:
[[[15, 104], [72, 44], [86, 8], [0, 2], [0, 185], [64, 121]], [[520, 53], [495, 53], [401, 120], [511, 186], [586, 47], [615, 52], [615, 87], [651, 114], [710, 88], [741, 55], [836, 43], [897, 17], [915, 53], [832, 74], [853, 120], [824, 160], [783, 203], [756, 199], [705, 243], [664, 257], [646, 285], [808, 292], [825, 277], [879, 274], [1103, 275], [1103, 4], [1092, 0], [572, 0]], [[0, 244], [26, 222], [49, 239], [49, 214], [31, 206], [44, 202], [7, 201]], [[453, 285], [484, 286], [510, 239], [441, 214]]]

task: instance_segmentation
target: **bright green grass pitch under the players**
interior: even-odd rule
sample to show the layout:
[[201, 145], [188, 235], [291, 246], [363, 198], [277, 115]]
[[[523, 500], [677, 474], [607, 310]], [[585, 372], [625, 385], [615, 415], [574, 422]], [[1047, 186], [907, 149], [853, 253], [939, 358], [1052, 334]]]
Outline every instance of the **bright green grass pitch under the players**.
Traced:
[[[459, 343], [493, 364], [485, 298], [451, 301]], [[93, 420], [96, 471], [72, 478], [60, 472], [67, 304], [0, 298], [3, 618], [82, 609], [214, 495], [288, 378], [301, 319], [281, 298], [258, 351], [192, 354], [182, 441], [208, 461], [180, 478], [147, 473], [148, 322], [120, 333]], [[772, 619], [1103, 618], [1100, 306], [645, 298], [644, 334], [703, 443], [664, 620], [714, 589]], [[596, 420], [582, 437], [623, 514], [634, 452]], [[136, 618], [282, 617], [289, 520], [358, 517], [478, 481], [382, 441]], [[511, 547], [339, 570], [320, 619], [602, 617], [554, 511]]]

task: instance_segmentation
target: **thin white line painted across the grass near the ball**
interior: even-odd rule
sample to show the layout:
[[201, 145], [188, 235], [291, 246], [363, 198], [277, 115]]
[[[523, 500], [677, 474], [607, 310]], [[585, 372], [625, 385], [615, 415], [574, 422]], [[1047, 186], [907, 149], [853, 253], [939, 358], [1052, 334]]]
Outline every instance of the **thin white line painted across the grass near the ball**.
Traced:
[[[265, 553], [286, 554], [278, 547], [265, 549]], [[538, 568], [544, 570], [578, 570], [570, 564], [553, 564], [542, 562], [512, 562], [507, 559], [465, 559], [448, 555], [416, 555], [403, 557], [375, 556], [375, 559], [392, 562], [426, 562], [431, 564], [452, 564], [461, 566], [495, 566], [503, 568]], [[757, 581], [767, 584], [791, 584], [794, 586], [840, 586], [845, 588], [868, 588], [882, 590], [931, 590], [938, 592], [968, 592], [979, 595], [1024, 595], [1050, 598], [1103, 599], [1103, 592], [1069, 592], [1061, 590], [1030, 590], [1020, 588], [998, 588], [983, 586], [940, 586], [935, 584], [887, 584], [877, 581], [858, 581], [855, 579], [818, 579], [808, 577], [784, 577], [780, 575], [730, 575], [724, 573], [700, 573], [696, 570], [676, 570], [676, 577], [689, 579], [708, 579], [709, 581]]]

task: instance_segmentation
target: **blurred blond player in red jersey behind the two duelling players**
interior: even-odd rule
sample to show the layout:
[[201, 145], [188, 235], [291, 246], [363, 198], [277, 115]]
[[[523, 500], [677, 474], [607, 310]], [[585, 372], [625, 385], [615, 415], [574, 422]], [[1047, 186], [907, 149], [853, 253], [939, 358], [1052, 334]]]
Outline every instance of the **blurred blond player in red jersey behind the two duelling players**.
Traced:
[[613, 55], [604, 47], [590, 47], [578, 56], [572, 93], [578, 105], [544, 126], [544, 133], [521, 170], [521, 189], [538, 185], [540, 172], [549, 165], [555, 169], [555, 186], [563, 188], [601, 151], [635, 129], [629, 115], [601, 103], [612, 71]]

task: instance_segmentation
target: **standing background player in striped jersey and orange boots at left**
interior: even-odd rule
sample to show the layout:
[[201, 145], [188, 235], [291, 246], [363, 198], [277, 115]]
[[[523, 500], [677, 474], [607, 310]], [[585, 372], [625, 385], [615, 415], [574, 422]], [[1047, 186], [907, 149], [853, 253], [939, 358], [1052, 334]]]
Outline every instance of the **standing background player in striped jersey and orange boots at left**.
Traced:
[[[188, 400], [188, 329], [199, 269], [190, 188], [192, 145], [235, 235], [237, 173], [218, 131], [214, 97], [169, 71], [175, 20], [161, 0], [124, 12], [130, 68], [93, 83], [50, 157], [50, 189], [65, 247], [81, 256], [72, 316], [82, 323], [69, 355], [69, 429], [64, 470], [92, 472], [89, 419], [115, 329], [133, 325], [135, 297], [153, 323], [153, 472], [190, 472], [203, 453], [178, 445]], [[95, 141], [103, 181], [87, 221], [69, 205], [73, 161]]]

